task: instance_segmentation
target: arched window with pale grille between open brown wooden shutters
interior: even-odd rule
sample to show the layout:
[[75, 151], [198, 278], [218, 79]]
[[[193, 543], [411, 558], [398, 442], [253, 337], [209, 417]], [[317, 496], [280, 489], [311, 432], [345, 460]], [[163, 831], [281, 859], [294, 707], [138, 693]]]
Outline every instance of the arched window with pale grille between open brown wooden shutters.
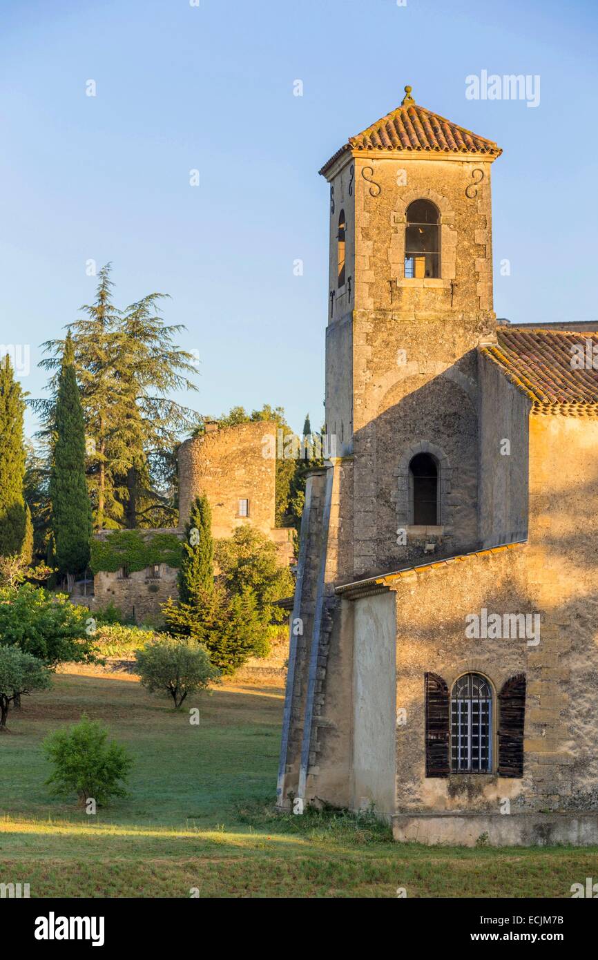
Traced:
[[487, 774], [492, 769], [492, 691], [478, 673], [455, 681], [450, 697], [450, 769]]

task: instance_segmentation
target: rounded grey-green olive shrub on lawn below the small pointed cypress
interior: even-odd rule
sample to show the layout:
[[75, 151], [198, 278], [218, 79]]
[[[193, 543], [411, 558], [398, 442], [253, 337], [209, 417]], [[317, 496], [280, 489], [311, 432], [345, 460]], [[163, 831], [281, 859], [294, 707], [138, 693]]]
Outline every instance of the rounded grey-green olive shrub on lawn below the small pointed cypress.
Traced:
[[176, 708], [189, 693], [205, 689], [220, 677], [203, 644], [192, 639], [160, 636], [138, 650], [135, 660], [146, 689], [172, 697]]

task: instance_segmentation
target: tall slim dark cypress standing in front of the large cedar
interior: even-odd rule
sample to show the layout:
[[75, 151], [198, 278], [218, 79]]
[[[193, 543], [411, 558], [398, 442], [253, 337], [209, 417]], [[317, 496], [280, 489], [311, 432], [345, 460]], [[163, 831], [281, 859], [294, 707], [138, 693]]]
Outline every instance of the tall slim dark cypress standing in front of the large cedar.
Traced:
[[75, 574], [89, 562], [91, 504], [85, 480], [85, 426], [75, 375], [70, 332], [64, 343], [54, 415], [54, 450], [50, 473], [52, 531], [56, 561], [69, 589]]

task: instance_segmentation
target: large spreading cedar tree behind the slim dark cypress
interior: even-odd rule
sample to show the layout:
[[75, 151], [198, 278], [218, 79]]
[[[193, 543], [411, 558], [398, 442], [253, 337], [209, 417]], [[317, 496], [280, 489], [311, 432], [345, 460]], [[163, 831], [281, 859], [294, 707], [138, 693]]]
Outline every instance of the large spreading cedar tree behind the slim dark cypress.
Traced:
[[[175, 344], [184, 327], [161, 317], [166, 295], [152, 293], [121, 310], [112, 300], [110, 269], [107, 264], [98, 275], [95, 301], [68, 324], [84, 410], [94, 528], [159, 527], [176, 516], [171, 488], [179, 434], [197, 421], [169, 394], [197, 389], [189, 379], [197, 361]], [[56, 395], [64, 341], [50, 340], [44, 348], [52, 355], [41, 366], [54, 372], [50, 388]], [[46, 435], [54, 402], [52, 396], [34, 404]]]

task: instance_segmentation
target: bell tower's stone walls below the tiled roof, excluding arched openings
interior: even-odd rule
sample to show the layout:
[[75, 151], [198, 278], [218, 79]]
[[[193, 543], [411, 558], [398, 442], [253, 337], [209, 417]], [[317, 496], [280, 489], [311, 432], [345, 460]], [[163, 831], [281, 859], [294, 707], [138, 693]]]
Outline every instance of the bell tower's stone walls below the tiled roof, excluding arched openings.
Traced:
[[[490, 161], [468, 157], [344, 156], [335, 196], [353, 168], [354, 298], [328, 311], [326, 427], [354, 455], [353, 576], [417, 563], [478, 543], [476, 348], [494, 337]], [[472, 186], [473, 170], [483, 179]], [[480, 174], [476, 174], [478, 180]], [[441, 276], [404, 276], [406, 210], [440, 212]], [[330, 220], [330, 292], [336, 229]], [[350, 305], [350, 312], [348, 306]], [[408, 463], [419, 444], [442, 460], [443, 522], [409, 527]]]

